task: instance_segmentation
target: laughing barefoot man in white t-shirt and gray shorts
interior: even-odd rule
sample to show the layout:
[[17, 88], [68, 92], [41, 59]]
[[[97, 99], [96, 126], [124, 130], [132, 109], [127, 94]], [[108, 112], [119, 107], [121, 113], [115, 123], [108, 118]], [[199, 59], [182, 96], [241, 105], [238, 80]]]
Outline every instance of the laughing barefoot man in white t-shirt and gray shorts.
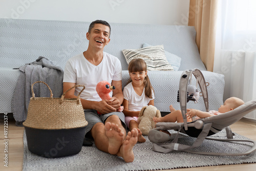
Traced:
[[[137, 129], [127, 133], [123, 127], [124, 114], [117, 112], [123, 101], [122, 69], [119, 59], [103, 52], [110, 42], [111, 27], [103, 20], [90, 24], [87, 33], [89, 46], [86, 51], [70, 58], [63, 77], [63, 92], [83, 84], [86, 89], [80, 95], [84, 115], [88, 121], [86, 137], [92, 137], [103, 152], [121, 156], [124, 161], [134, 160], [133, 146], [137, 143]], [[96, 84], [106, 80], [115, 86], [110, 100], [101, 100]], [[81, 88], [69, 91], [65, 98], [76, 98]], [[98, 114], [97, 112], [101, 113]]]

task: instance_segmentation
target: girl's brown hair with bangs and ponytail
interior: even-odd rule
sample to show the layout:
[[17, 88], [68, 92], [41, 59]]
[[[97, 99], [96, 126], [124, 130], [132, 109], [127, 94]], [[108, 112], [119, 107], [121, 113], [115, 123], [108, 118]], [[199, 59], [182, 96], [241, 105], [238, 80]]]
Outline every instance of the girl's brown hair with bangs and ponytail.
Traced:
[[[132, 72], [141, 72], [141, 71], [147, 71], [146, 70], [146, 62], [141, 58], [136, 58], [130, 61], [128, 66], [129, 73]], [[130, 78], [128, 83], [132, 82], [132, 79]], [[128, 84], [127, 83], [127, 84]], [[144, 88], [145, 88], [145, 95], [148, 98], [152, 98], [152, 90], [154, 92], [154, 89], [151, 85], [150, 78], [148, 78], [148, 75], [144, 79]], [[154, 92], [155, 93], [155, 92]]]

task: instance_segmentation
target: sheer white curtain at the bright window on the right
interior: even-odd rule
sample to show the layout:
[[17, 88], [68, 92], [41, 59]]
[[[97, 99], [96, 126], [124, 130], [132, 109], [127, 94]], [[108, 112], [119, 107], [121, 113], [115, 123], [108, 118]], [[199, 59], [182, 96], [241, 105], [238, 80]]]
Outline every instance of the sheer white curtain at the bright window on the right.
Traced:
[[[224, 74], [224, 99], [256, 99], [256, 1], [223, 0], [218, 6], [214, 72]], [[256, 110], [245, 117], [256, 119]]]

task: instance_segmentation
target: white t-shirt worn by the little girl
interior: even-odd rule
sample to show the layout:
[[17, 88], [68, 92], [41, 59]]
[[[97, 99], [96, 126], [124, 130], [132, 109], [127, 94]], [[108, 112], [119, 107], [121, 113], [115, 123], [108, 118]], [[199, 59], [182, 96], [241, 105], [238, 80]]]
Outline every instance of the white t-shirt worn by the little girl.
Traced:
[[145, 95], [144, 88], [142, 95], [139, 96], [133, 89], [132, 82], [130, 82], [129, 84], [127, 84], [127, 86], [123, 88], [123, 98], [129, 101], [129, 111], [140, 111], [144, 106], [147, 106], [150, 100], [155, 98], [155, 95], [154, 91], [152, 90], [152, 99], [148, 98]]

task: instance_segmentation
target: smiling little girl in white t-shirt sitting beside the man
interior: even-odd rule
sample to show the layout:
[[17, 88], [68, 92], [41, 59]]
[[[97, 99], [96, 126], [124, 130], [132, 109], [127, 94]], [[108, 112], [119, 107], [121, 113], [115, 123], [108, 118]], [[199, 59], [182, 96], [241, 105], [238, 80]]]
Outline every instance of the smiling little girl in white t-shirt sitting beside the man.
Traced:
[[130, 130], [136, 128], [139, 132], [138, 142], [145, 142], [137, 121], [139, 112], [146, 105], [154, 105], [154, 89], [147, 76], [146, 62], [143, 59], [133, 59], [128, 66], [130, 80], [123, 89], [123, 113], [125, 123]]

